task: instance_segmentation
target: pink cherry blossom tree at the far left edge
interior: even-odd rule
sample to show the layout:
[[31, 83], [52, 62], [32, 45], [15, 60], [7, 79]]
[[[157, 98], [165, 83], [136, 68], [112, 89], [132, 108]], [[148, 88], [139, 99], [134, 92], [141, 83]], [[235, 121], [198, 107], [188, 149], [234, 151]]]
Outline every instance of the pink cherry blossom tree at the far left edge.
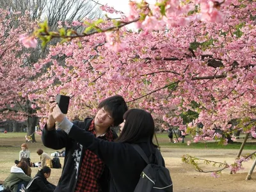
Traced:
[[0, 10], [0, 15], [0, 120], [27, 121], [35, 129], [35, 104], [22, 97], [31, 87], [35, 70], [29, 63], [29, 53], [19, 43], [21, 35], [31, 33], [35, 24], [28, 15], [6, 10]]

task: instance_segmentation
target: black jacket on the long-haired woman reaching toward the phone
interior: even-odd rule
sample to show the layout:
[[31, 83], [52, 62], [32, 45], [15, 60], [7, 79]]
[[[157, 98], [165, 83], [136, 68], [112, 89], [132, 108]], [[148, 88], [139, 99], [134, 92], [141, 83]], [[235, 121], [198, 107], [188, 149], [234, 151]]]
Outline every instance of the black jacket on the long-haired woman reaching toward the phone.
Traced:
[[[118, 143], [99, 140], [90, 133], [79, 129], [76, 125], [68, 133], [70, 138], [77, 140], [102, 159], [111, 173], [111, 192], [132, 192], [140, 179], [142, 170], [147, 165], [140, 154], [129, 143]], [[148, 141], [137, 143], [150, 157], [153, 146]], [[164, 164], [164, 160], [163, 160]]]

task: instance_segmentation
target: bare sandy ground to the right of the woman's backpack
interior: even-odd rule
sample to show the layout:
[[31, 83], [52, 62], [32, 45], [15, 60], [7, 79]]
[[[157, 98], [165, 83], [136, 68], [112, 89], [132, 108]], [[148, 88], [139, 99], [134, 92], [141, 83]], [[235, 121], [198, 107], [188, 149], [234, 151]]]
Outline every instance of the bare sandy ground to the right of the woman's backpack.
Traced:
[[[181, 157], [184, 154], [201, 157], [213, 161], [227, 161], [234, 163], [238, 150], [220, 150], [220, 149], [189, 149], [189, 148], [161, 148], [166, 166], [170, 169], [173, 180], [173, 191], [256, 191], [256, 170], [252, 174], [252, 180], [245, 180], [248, 171], [252, 167], [253, 161], [243, 164], [244, 170], [230, 175], [230, 170], [224, 170], [221, 177], [211, 177], [211, 173], [199, 173], [193, 170], [189, 164], [182, 163]], [[243, 154], [253, 152], [244, 150]], [[212, 166], [204, 166], [204, 170], [212, 170]]]

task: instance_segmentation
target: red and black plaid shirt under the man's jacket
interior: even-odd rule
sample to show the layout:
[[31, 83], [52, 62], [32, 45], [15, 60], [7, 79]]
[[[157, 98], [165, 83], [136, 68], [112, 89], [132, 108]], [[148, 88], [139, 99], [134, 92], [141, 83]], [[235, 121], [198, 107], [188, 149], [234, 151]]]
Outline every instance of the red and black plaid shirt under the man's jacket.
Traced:
[[[90, 125], [89, 132], [92, 132], [94, 136], [96, 136], [96, 131], [94, 127], [94, 120]], [[108, 141], [113, 141], [113, 132], [108, 129], [104, 136], [99, 136], [100, 139], [106, 139]], [[98, 184], [98, 180], [104, 171], [104, 163], [102, 160], [97, 157], [90, 150], [84, 151], [84, 156], [81, 164], [81, 168], [79, 171], [79, 177], [77, 180], [76, 192], [98, 192], [100, 190], [100, 186]]]

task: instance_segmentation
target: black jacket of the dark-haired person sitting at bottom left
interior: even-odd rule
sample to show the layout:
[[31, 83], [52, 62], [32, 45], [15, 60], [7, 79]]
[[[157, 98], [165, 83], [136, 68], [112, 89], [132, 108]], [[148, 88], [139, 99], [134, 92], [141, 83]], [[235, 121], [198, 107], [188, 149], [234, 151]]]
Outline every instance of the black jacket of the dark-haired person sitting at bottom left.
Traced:
[[50, 182], [45, 179], [44, 175], [40, 172], [36, 174], [33, 178], [33, 182], [31, 182], [30, 186], [28, 184], [27, 190], [28, 192], [52, 192], [54, 189]]

